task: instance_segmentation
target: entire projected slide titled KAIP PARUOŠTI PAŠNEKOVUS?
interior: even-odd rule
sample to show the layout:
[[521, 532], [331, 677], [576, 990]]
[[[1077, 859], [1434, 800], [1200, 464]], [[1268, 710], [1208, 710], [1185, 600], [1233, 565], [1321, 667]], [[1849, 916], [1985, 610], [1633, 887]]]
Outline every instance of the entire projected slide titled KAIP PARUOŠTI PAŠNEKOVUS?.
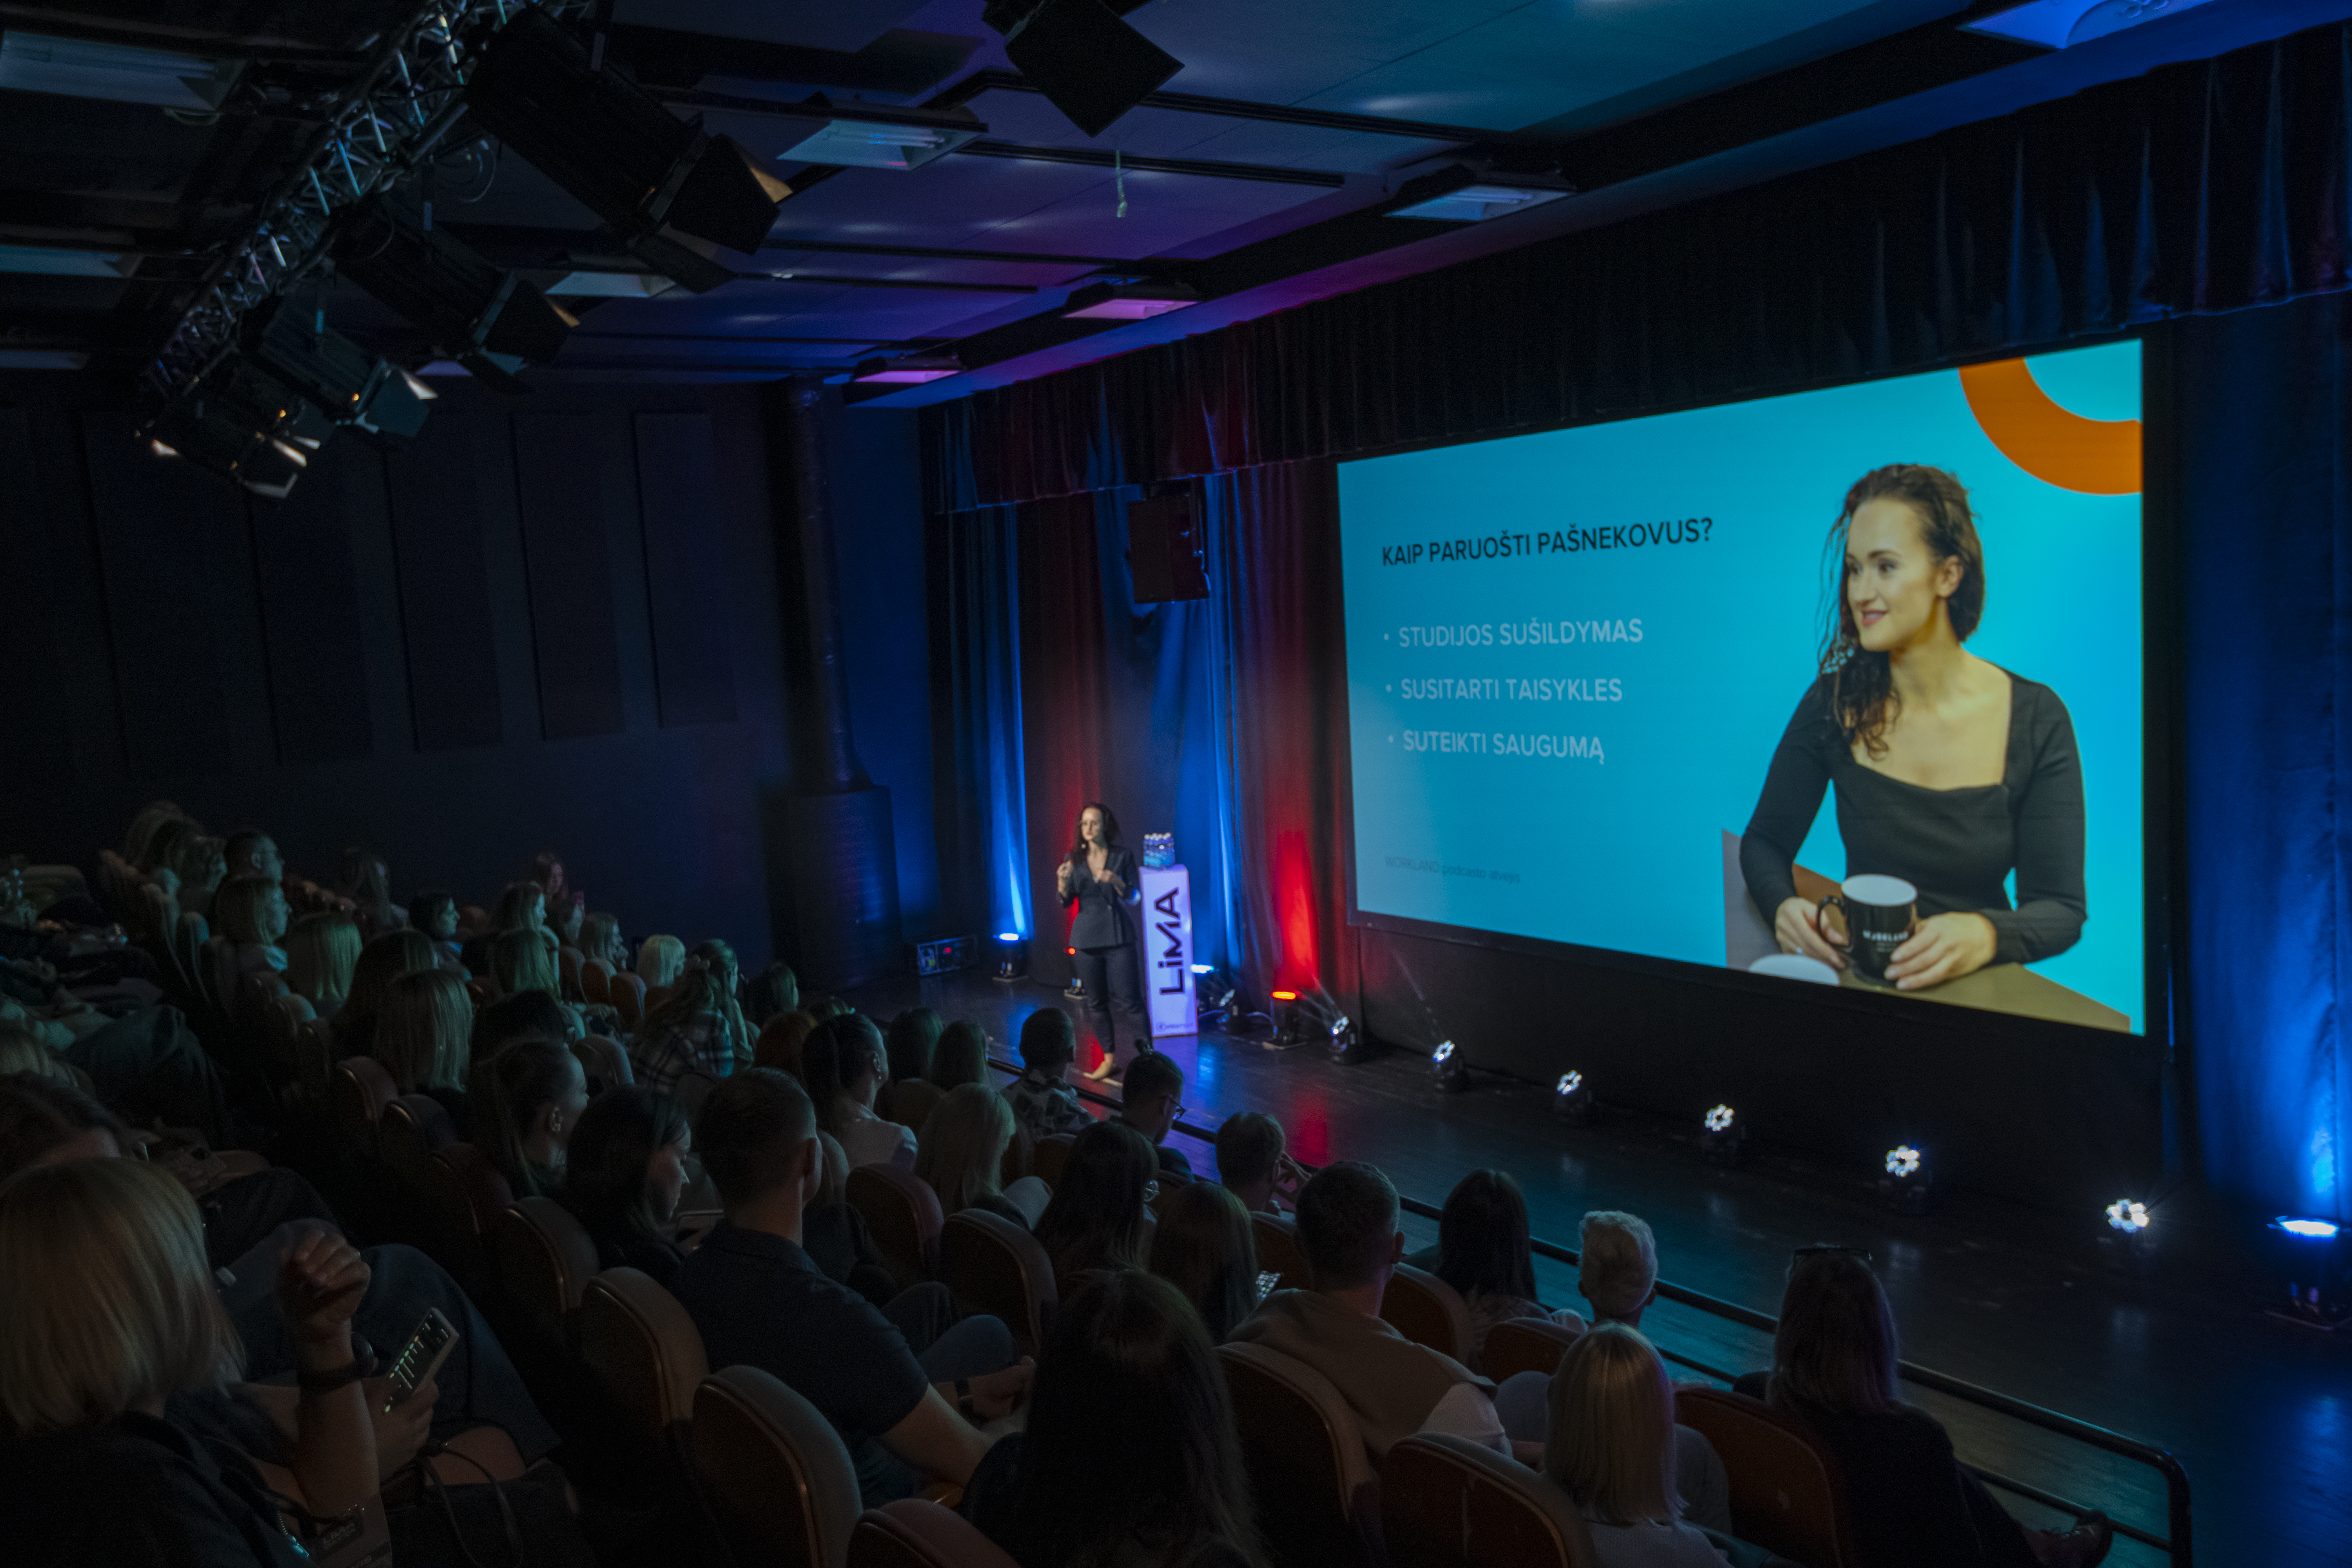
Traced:
[[1338, 484], [1362, 914], [2145, 1030], [2136, 341]]

